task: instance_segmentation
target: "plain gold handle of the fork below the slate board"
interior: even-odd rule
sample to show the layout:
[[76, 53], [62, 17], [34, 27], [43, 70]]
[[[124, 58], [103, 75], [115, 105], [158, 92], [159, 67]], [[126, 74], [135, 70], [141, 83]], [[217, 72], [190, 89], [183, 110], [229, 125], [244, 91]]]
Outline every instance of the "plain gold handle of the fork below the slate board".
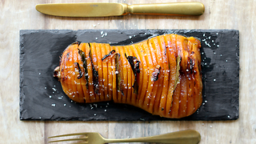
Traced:
[[197, 144], [201, 135], [196, 130], [182, 130], [168, 134], [160, 134], [143, 138], [105, 139], [105, 143], [112, 142], [154, 142], [154, 143], [177, 143]]

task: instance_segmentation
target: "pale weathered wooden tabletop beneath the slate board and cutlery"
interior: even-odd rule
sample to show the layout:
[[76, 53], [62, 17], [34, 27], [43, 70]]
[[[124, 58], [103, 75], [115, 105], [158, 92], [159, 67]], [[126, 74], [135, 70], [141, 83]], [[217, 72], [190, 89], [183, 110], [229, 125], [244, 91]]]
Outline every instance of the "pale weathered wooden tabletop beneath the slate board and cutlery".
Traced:
[[[194, 1], [194, 0], [188, 0]], [[35, 5], [58, 2], [159, 3], [185, 0], [2, 0], [0, 1], [0, 143], [47, 143], [47, 137], [99, 132], [106, 138], [137, 138], [193, 129], [200, 143], [256, 143], [256, 1], [198, 0], [200, 17], [127, 15], [110, 18], [61, 18], [38, 13]], [[83, 29], [235, 29], [240, 31], [239, 118], [235, 121], [24, 122], [19, 120], [19, 30]], [[255, 50], [254, 50], [255, 49]]]

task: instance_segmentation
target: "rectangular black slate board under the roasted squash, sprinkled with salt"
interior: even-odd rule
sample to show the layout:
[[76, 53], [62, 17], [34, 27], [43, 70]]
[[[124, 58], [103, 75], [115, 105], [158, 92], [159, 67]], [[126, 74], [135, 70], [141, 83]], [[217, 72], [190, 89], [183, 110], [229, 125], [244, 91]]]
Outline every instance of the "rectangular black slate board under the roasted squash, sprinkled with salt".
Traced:
[[[160, 34], [202, 42], [203, 103], [193, 115], [160, 118], [137, 107], [99, 102], [78, 104], [53, 78], [59, 56], [72, 42], [126, 45]], [[235, 120], [239, 105], [238, 30], [20, 30], [20, 119], [51, 121]]]

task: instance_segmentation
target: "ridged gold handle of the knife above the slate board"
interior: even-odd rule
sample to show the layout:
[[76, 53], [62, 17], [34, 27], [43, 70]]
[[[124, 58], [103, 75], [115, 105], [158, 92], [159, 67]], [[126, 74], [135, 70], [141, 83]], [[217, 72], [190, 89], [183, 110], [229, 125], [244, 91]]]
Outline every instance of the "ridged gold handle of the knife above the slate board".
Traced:
[[127, 6], [130, 14], [164, 14], [164, 15], [202, 15], [205, 6], [201, 2], [172, 2], [154, 4], [134, 4]]

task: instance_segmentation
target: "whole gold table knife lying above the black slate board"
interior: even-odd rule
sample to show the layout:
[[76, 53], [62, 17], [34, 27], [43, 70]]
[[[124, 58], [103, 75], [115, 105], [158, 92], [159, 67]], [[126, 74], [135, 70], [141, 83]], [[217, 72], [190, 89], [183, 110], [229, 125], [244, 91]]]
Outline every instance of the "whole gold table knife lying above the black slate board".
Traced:
[[172, 2], [154, 4], [125, 3], [52, 3], [38, 4], [36, 10], [43, 14], [63, 17], [109, 17], [125, 14], [165, 14], [198, 16], [205, 11], [201, 2]]

